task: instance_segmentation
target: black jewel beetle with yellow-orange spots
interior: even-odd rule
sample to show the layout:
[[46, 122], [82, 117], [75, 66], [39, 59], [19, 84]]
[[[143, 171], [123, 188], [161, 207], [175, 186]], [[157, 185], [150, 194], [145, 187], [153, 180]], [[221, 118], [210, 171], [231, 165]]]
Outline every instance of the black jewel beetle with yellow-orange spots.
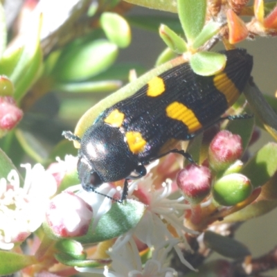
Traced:
[[[222, 51], [223, 71], [200, 76], [185, 62], [157, 75], [134, 95], [105, 109], [82, 138], [64, 132], [66, 139], [80, 142], [78, 175], [84, 190], [97, 192], [105, 182], [127, 180], [146, 174], [145, 166], [177, 150], [186, 141], [217, 123], [247, 84], [253, 57], [238, 48]], [[107, 196], [107, 195], [105, 195]]]

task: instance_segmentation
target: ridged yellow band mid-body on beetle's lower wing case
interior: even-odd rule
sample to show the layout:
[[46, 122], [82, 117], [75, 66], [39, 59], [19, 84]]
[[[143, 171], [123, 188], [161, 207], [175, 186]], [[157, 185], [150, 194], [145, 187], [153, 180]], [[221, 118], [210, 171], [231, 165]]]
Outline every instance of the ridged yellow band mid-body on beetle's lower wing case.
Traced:
[[166, 115], [172, 119], [180, 120], [188, 127], [190, 133], [202, 128], [194, 112], [180, 102], [172, 102], [168, 105]]

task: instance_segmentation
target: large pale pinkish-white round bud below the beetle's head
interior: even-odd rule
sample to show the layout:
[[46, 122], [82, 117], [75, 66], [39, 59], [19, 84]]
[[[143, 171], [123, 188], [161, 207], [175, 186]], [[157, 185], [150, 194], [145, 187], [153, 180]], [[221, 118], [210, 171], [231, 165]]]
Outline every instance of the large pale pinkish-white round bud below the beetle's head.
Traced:
[[51, 232], [62, 238], [85, 235], [89, 229], [92, 209], [73, 193], [56, 195], [46, 211], [46, 222]]

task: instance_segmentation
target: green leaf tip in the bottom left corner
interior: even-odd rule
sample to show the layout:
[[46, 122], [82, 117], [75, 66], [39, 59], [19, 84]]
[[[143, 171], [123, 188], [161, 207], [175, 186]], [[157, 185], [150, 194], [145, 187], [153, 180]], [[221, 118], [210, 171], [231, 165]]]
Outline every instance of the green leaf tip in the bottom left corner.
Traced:
[[37, 260], [34, 256], [25, 256], [18, 253], [0, 250], [0, 275], [13, 274], [24, 267], [35, 265]]

